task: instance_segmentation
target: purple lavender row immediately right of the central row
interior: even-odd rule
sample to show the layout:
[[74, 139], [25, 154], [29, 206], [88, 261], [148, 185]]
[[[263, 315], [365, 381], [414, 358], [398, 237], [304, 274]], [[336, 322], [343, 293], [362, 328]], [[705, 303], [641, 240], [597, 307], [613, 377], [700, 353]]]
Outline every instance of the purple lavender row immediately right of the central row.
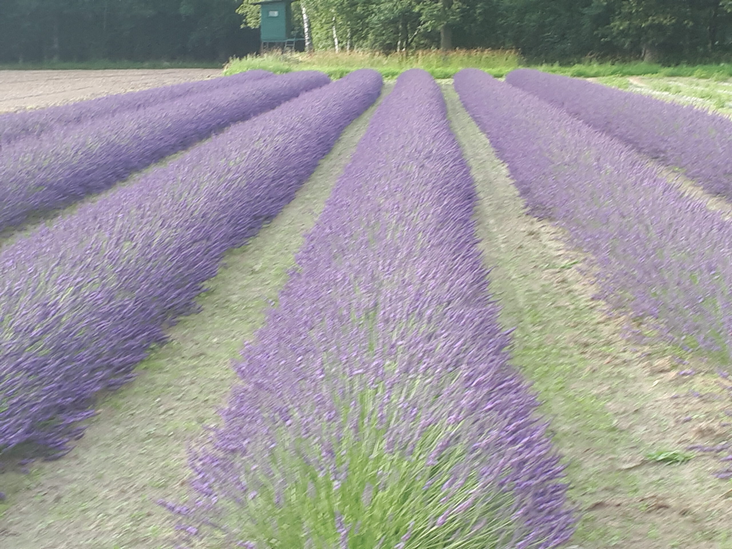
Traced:
[[687, 347], [732, 349], [732, 225], [629, 146], [485, 72], [455, 89], [531, 212], [597, 261], [601, 296]]

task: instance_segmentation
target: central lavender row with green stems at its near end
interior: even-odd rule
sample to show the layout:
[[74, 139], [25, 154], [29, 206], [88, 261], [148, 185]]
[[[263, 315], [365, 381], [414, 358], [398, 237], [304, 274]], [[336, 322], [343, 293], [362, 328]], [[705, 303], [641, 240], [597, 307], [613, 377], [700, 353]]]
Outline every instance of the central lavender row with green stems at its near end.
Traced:
[[190, 454], [202, 498], [160, 502], [184, 516], [184, 537], [247, 548], [569, 539], [563, 468], [507, 364], [475, 200], [441, 91], [424, 71], [403, 73], [242, 352], [223, 426]]

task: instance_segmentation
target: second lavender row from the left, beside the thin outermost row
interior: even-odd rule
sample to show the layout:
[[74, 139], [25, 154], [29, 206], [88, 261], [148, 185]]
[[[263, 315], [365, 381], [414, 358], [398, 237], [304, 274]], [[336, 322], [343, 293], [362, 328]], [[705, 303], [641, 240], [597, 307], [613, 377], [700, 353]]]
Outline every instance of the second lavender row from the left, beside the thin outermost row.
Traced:
[[108, 189], [233, 122], [329, 81], [321, 72], [292, 72], [19, 139], [0, 152], [0, 231], [31, 212]]

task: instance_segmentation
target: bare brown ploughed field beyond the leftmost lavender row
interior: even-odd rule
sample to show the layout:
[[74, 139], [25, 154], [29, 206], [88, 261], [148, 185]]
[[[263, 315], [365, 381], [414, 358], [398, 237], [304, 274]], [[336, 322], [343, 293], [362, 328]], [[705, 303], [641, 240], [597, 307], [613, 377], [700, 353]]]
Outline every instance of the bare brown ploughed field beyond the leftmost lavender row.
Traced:
[[0, 70], [0, 113], [220, 75], [215, 69]]

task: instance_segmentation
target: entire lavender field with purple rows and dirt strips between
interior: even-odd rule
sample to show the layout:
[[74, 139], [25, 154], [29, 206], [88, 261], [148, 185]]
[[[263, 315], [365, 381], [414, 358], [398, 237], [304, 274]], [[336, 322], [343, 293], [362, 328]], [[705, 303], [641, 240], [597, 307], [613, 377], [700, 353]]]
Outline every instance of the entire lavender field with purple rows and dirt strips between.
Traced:
[[732, 548], [714, 111], [253, 71], [0, 132], [3, 549]]

